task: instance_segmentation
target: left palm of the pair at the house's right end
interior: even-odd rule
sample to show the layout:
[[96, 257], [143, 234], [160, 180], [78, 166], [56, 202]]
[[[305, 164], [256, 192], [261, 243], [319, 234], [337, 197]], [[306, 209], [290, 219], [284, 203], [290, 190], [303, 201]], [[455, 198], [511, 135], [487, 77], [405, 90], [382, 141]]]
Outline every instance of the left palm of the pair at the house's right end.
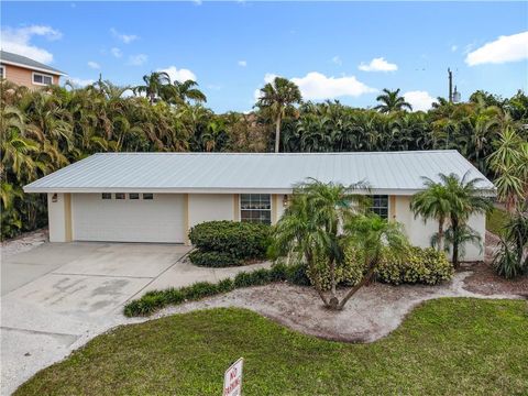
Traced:
[[443, 251], [443, 233], [446, 220], [451, 213], [451, 201], [446, 186], [425, 177], [424, 185], [426, 189], [413, 196], [410, 210], [415, 213], [415, 219], [421, 216], [424, 222], [427, 219], [438, 221], [437, 249]]

